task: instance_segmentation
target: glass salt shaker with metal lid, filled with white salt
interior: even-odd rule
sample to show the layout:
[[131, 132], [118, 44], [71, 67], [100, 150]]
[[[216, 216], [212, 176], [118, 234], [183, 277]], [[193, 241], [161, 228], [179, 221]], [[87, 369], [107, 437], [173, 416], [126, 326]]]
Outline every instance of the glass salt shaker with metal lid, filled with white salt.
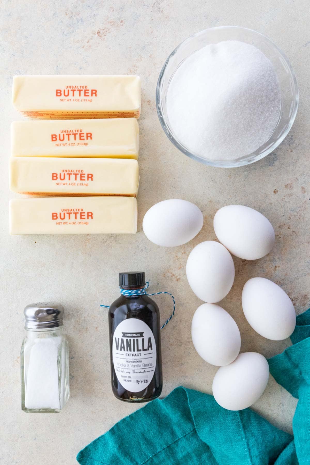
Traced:
[[25, 307], [26, 337], [20, 351], [21, 408], [25, 412], [60, 412], [69, 399], [69, 352], [63, 335], [61, 305]]

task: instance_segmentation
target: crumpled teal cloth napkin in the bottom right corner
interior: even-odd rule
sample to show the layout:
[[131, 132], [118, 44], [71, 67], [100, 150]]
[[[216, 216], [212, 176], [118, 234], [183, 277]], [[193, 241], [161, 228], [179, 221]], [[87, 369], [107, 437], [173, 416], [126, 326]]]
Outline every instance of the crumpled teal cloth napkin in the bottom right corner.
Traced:
[[230, 412], [213, 396], [178, 387], [114, 425], [79, 452], [81, 465], [309, 465], [310, 309], [297, 317], [293, 345], [268, 360], [298, 400], [294, 437], [251, 409]]

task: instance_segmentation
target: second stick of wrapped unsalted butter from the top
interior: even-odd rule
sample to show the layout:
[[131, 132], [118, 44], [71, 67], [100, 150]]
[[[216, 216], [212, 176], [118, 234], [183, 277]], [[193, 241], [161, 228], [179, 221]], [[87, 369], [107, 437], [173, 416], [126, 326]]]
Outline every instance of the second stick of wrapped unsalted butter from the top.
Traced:
[[135, 118], [106, 120], [13, 121], [14, 157], [138, 158]]

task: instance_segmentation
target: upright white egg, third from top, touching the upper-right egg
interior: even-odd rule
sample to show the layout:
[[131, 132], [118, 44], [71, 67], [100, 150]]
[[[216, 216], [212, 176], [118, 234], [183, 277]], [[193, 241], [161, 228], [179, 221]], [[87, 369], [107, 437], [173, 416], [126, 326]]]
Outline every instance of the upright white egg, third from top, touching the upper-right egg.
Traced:
[[228, 250], [207, 240], [194, 247], [186, 263], [186, 276], [192, 291], [214, 304], [224, 299], [235, 279], [235, 266]]

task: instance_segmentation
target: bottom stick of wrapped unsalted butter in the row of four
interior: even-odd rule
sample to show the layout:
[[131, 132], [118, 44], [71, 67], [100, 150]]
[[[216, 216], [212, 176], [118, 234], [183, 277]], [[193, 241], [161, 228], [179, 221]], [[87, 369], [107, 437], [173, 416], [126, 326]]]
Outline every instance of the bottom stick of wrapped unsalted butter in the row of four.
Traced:
[[136, 233], [134, 197], [10, 200], [10, 234]]

